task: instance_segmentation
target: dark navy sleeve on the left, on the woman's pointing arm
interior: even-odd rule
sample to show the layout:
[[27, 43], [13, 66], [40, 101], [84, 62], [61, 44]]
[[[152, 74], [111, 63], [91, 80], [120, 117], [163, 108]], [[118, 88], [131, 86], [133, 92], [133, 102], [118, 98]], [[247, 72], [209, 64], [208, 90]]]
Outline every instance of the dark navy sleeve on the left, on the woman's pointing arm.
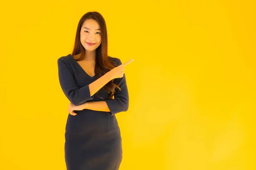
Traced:
[[57, 63], [61, 89], [70, 102], [74, 105], [81, 105], [87, 100], [93, 99], [93, 96], [90, 96], [89, 85], [79, 88], [72, 71], [64, 60], [59, 58]]

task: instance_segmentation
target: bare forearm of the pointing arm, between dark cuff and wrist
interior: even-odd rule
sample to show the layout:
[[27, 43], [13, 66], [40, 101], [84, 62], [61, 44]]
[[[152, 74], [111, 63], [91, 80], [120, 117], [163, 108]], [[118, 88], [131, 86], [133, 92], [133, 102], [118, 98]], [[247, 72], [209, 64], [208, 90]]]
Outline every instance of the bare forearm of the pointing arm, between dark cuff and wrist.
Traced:
[[90, 83], [89, 84], [90, 96], [93, 96], [94, 94], [96, 94], [97, 91], [99, 91], [104, 85], [106, 85], [112, 79], [113, 78], [111, 77], [111, 74], [106, 73], [99, 79]]

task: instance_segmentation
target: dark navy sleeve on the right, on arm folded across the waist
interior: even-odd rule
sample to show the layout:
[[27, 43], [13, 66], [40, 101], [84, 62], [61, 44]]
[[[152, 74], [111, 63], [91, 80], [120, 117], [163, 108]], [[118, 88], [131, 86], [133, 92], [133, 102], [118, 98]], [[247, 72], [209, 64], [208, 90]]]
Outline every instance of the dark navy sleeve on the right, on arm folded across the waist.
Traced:
[[[121, 60], [118, 59], [117, 65], [121, 64]], [[115, 79], [114, 83], [119, 85], [121, 91], [118, 88], [116, 88], [114, 99], [105, 100], [110, 110], [109, 114], [111, 116], [122, 111], [127, 111], [129, 107], [129, 94], [125, 74], [122, 78]]]

